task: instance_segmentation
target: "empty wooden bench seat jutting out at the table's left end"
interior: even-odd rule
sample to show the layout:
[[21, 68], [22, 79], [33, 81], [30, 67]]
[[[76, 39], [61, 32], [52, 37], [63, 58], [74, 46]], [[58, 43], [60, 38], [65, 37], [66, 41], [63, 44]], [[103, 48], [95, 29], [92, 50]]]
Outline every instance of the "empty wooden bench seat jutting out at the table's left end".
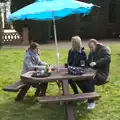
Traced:
[[24, 84], [21, 80], [18, 80], [15, 83], [13, 83], [12, 85], [4, 87], [3, 90], [4, 91], [9, 91], [9, 92], [18, 92], [19, 89], [21, 89], [25, 85], [26, 84]]

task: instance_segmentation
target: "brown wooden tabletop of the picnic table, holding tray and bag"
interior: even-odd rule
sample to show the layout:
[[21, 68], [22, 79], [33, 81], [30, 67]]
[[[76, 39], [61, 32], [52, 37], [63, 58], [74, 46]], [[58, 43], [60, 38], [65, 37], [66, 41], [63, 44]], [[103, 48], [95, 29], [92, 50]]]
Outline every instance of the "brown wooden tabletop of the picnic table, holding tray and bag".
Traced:
[[86, 80], [92, 79], [95, 76], [96, 71], [93, 69], [85, 69], [85, 73], [82, 75], [70, 75], [66, 71], [66, 68], [63, 70], [59, 70], [59, 72], [52, 72], [49, 77], [32, 77], [32, 74], [36, 71], [29, 71], [23, 75], [21, 75], [21, 80], [24, 83], [41, 83], [41, 82], [54, 82], [56, 80]]

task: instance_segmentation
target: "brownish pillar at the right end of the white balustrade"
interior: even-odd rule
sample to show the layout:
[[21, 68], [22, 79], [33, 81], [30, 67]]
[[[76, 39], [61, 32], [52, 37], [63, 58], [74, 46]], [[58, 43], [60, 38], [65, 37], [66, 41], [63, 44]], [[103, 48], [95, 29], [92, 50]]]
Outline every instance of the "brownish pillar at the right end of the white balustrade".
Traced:
[[23, 45], [29, 45], [28, 27], [23, 28]]

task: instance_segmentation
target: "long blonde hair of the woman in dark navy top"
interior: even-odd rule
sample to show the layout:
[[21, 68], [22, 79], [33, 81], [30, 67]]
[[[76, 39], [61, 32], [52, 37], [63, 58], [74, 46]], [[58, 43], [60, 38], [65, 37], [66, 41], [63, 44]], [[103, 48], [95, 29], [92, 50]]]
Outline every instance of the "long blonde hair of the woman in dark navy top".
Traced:
[[82, 41], [79, 36], [74, 36], [71, 39], [72, 42], [72, 50], [76, 50], [77, 52], [81, 52]]

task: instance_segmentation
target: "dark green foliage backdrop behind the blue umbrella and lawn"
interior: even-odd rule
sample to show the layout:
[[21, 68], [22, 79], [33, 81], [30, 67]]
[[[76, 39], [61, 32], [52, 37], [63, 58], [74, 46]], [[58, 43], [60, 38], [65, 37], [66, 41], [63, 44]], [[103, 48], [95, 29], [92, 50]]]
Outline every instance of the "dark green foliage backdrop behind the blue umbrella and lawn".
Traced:
[[[70, 40], [73, 35], [79, 35], [81, 38], [105, 38], [105, 37], [118, 37], [120, 34], [120, 1], [116, 2], [116, 18], [113, 22], [110, 22], [110, 7], [109, 4], [112, 0], [80, 0], [84, 2], [92, 2], [100, 8], [94, 7], [88, 16], [80, 17], [80, 20], [76, 22], [76, 16], [68, 16], [64, 19], [56, 21], [58, 40]], [[14, 12], [21, 7], [31, 4], [34, 0], [12, 0], [11, 11]], [[14, 23], [14, 27], [17, 31], [22, 33], [24, 22], [17, 21]], [[46, 43], [48, 42], [50, 31], [52, 36], [54, 35], [51, 22], [41, 21], [27, 21], [26, 24], [29, 28], [30, 40]], [[76, 32], [77, 31], [77, 32]], [[115, 33], [115, 36], [113, 36]], [[54, 38], [52, 38], [54, 39]]]

